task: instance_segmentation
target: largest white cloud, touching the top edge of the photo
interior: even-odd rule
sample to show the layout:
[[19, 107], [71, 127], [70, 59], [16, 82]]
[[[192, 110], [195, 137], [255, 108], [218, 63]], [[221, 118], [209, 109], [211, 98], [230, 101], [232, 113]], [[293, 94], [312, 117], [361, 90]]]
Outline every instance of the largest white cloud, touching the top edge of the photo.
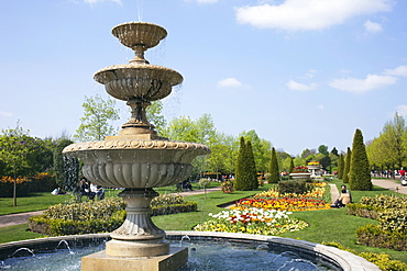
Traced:
[[287, 31], [324, 30], [365, 14], [389, 11], [391, 0], [284, 0], [235, 8], [239, 23]]

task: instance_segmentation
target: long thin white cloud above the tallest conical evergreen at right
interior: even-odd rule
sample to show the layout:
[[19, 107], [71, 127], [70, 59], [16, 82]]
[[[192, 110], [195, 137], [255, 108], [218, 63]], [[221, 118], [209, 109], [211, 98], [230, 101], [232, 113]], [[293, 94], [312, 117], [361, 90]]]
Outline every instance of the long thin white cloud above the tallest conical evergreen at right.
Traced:
[[397, 78], [393, 76], [377, 76], [377, 75], [367, 75], [364, 79], [358, 78], [343, 78], [343, 79], [334, 79], [332, 80], [329, 86], [353, 93], [363, 93], [370, 90], [384, 88], [391, 84], [396, 83]]

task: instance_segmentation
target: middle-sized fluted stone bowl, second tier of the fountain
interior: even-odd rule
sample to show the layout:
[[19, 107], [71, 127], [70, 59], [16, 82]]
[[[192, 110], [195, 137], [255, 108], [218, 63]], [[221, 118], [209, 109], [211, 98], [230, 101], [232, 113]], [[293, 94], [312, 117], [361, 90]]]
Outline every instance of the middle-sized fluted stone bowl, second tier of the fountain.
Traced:
[[100, 69], [95, 80], [105, 84], [106, 91], [122, 101], [143, 98], [156, 101], [167, 97], [172, 87], [183, 82], [183, 76], [169, 68], [150, 64], [113, 65]]

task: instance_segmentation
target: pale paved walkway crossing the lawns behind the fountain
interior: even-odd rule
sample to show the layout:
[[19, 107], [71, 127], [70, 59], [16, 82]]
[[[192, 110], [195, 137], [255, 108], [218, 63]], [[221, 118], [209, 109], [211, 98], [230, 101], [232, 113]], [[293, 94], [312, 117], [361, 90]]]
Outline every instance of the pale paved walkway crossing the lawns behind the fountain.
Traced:
[[[391, 179], [386, 180], [378, 180], [378, 179], [372, 179], [372, 183], [374, 185], [388, 189], [402, 194], [407, 194], [407, 187], [403, 187], [402, 184], [397, 183], [396, 181], [393, 181]], [[331, 199], [332, 202], [334, 202], [339, 197], [339, 191], [336, 184], [329, 184], [331, 187]], [[220, 191], [221, 188], [211, 188], [207, 189], [207, 193]], [[196, 195], [196, 194], [204, 194], [204, 190], [194, 190], [194, 191], [185, 191], [180, 192], [180, 195], [187, 196], [187, 195]], [[41, 215], [44, 211], [36, 211], [36, 212], [29, 212], [29, 213], [21, 213], [21, 214], [11, 214], [11, 215], [1, 215], [0, 216], [0, 228], [2, 227], [9, 227], [13, 225], [24, 224], [29, 222], [29, 218], [34, 215]]]

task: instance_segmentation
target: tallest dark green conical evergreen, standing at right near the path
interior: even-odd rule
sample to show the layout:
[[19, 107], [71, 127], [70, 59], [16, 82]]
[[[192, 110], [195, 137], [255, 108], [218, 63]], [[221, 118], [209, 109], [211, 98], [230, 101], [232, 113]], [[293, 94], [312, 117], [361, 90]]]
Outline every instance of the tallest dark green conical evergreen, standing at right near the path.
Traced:
[[351, 190], [359, 191], [370, 191], [373, 187], [366, 148], [360, 129], [356, 129], [353, 137], [349, 184]]

